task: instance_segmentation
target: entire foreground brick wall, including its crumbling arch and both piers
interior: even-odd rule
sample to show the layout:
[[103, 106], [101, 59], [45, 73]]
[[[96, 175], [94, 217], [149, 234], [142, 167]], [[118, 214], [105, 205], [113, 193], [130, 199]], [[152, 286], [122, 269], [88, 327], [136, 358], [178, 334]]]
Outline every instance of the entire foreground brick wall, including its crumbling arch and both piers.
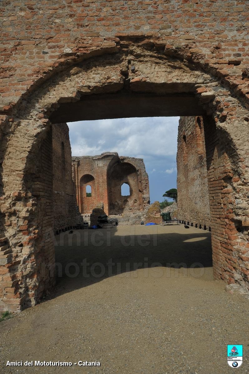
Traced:
[[202, 116], [213, 273], [248, 290], [248, 10], [244, 0], [1, 1], [1, 309], [54, 285], [52, 124], [75, 120]]

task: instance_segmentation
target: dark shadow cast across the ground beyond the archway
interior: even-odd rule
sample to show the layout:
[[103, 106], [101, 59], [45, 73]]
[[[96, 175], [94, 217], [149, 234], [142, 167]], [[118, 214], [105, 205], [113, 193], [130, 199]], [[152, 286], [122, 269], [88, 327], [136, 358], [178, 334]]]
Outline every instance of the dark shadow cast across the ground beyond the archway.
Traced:
[[204, 269], [212, 267], [211, 235], [207, 231], [157, 234], [151, 226], [147, 233], [146, 228], [142, 234], [134, 234], [131, 227], [121, 234], [113, 228], [58, 235], [57, 285], [49, 298], [147, 267], [182, 268], [183, 272], [195, 264]]

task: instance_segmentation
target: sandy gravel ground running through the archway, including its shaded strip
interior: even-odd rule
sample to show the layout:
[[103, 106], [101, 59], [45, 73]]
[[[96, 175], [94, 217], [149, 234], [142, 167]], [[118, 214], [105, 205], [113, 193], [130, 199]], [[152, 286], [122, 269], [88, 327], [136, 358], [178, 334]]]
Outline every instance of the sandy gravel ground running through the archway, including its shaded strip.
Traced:
[[[57, 237], [62, 276], [54, 292], [1, 322], [0, 373], [231, 373], [227, 344], [243, 344], [238, 372], [249, 372], [248, 300], [213, 280], [209, 232], [135, 226], [79, 230], [71, 238], [72, 245]], [[183, 267], [170, 269], [172, 262]], [[141, 263], [138, 270], [134, 263]], [[193, 270], [193, 263], [204, 267]], [[73, 366], [6, 367], [8, 360]], [[101, 366], [74, 365], [79, 360]]]

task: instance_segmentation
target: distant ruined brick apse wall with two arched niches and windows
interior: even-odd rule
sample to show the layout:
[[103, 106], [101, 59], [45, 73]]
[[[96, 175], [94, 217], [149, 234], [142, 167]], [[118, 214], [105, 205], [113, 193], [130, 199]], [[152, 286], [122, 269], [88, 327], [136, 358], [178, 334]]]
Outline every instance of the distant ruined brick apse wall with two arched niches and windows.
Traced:
[[[142, 159], [106, 152], [74, 156], [72, 167], [82, 214], [90, 214], [99, 202], [107, 215], [142, 211], [149, 203], [149, 179]], [[123, 183], [129, 184], [130, 196], [121, 196]], [[87, 185], [91, 186], [91, 197], [86, 196]]]

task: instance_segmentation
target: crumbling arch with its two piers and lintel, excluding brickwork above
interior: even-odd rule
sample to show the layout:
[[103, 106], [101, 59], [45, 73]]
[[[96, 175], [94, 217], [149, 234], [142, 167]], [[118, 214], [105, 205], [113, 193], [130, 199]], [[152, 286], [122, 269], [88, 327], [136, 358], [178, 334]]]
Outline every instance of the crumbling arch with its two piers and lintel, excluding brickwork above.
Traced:
[[[54, 285], [53, 217], [48, 208], [51, 123], [69, 119], [206, 115], [214, 275], [248, 288], [248, 111], [243, 102], [198, 62], [139, 43], [109, 52], [61, 66], [25, 93], [6, 118], [0, 274], [9, 283], [1, 294], [1, 308], [33, 305]], [[37, 157], [42, 154], [45, 158]]]

